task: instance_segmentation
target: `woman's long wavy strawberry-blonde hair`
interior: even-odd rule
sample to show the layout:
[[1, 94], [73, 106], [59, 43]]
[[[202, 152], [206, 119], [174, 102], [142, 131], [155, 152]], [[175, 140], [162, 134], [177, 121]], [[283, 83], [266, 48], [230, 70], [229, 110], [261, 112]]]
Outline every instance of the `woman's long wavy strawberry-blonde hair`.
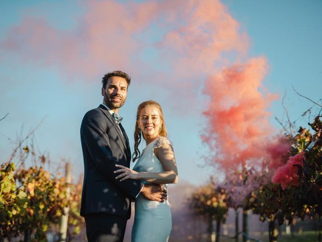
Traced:
[[[166, 125], [165, 125], [165, 118], [164, 118], [162, 107], [160, 106], [160, 104], [158, 104], [156, 101], [153, 101], [153, 100], [142, 102], [137, 107], [137, 112], [136, 112], [136, 122], [135, 122], [135, 131], [134, 131], [134, 152], [133, 152], [133, 155], [132, 155], [133, 162], [137, 158], [139, 158], [139, 156], [141, 154], [138, 146], [141, 143], [142, 131], [141, 131], [141, 129], [139, 129], [139, 126], [138, 126], [137, 122], [138, 122], [138, 120], [140, 118], [141, 110], [146, 106], [153, 106], [153, 107], [156, 107], [159, 110], [160, 118], [162, 120], [162, 126], [159, 129], [159, 136], [168, 137], [168, 131], [167, 131]], [[143, 139], [144, 139], [144, 136], [143, 136]]]

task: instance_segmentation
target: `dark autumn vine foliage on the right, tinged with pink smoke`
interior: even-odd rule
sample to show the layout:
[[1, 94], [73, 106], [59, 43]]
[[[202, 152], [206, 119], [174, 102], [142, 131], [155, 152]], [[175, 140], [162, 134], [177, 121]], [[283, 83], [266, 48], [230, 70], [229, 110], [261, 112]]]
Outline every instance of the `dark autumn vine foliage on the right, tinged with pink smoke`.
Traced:
[[[224, 184], [219, 185], [225, 194], [225, 209], [252, 210], [260, 215], [260, 220], [278, 221], [280, 225], [285, 219], [291, 222], [293, 218], [304, 219], [305, 216], [322, 217], [320, 117], [309, 124], [313, 134], [300, 128], [293, 137], [285, 135], [267, 146], [269, 155], [263, 157], [261, 169], [245, 166], [227, 175]], [[210, 215], [215, 210], [211, 196], [207, 194], [215, 197], [219, 187], [201, 188], [192, 195], [196, 213]], [[209, 191], [211, 189], [213, 191]], [[222, 216], [219, 211], [227, 210], [216, 210]]]

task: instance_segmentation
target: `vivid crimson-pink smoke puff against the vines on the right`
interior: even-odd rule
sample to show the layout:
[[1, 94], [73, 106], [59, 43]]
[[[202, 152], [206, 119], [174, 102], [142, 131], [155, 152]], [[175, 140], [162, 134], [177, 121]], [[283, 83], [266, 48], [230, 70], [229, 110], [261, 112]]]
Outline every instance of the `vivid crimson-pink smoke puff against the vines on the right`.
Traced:
[[299, 186], [297, 166], [295, 165], [303, 166], [303, 159], [305, 159], [304, 152], [289, 157], [287, 163], [276, 170], [272, 183], [280, 184], [282, 189], [288, 189], [291, 185]]

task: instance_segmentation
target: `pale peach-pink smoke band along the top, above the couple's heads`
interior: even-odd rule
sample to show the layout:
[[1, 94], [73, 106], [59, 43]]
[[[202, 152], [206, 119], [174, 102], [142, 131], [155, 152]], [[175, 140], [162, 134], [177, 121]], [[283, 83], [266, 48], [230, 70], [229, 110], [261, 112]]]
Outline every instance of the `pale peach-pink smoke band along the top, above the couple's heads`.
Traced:
[[[153, 38], [155, 33], [161, 36]], [[58, 67], [68, 76], [92, 79], [114, 69], [132, 75], [144, 70], [149, 76], [162, 64], [167, 74], [156, 80], [163, 80], [159, 85], [192, 87], [203, 81], [195, 77], [212, 74], [226, 61], [224, 52], [242, 53], [247, 46], [238, 22], [213, 0], [90, 1], [74, 29], [59, 30], [45, 19], [27, 17], [1, 43], [24, 61]], [[147, 48], [158, 54], [152, 62], [142, 55]]]

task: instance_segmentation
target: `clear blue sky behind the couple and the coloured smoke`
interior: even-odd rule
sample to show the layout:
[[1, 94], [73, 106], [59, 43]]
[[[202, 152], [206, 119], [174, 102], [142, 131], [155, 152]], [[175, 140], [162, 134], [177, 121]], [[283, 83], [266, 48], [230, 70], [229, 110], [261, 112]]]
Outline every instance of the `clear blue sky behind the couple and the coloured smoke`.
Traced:
[[[285, 106], [291, 120], [298, 119], [312, 105], [295, 94], [292, 85], [302, 95], [314, 101], [322, 97], [322, 2], [227, 0], [223, 4], [238, 21], [240, 31], [248, 34], [248, 56], [264, 55], [268, 60], [269, 73], [263, 84], [269, 92], [280, 95], [269, 108], [272, 114], [270, 121], [278, 130], [280, 126], [274, 116], [283, 116], [281, 97], [285, 91]], [[6, 39], [13, 27], [21, 25], [27, 16], [45, 19], [54, 29], [68, 32], [77, 28], [88, 11], [87, 5], [79, 1], [2, 1], [0, 9], [0, 42]], [[158, 29], [158, 25], [152, 23], [149, 30], [139, 33], [136, 38], [146, 43], [157, 42], [166, 30], [167, 27]], [[65, 74], [58, 66], [44, 64], [41, 58], [29, 61], [28, 58], [21, 57], [19, 52], [7, 51], [1, 46], [0, 118], [9, 112], [0, 122], [0, 154], [3, 161], [15, 147], [8, 138], [15, 140], [22, 127], [23, 134], [26, 134], [44, 118], [34, 137], [37, 149], [48, 152], [53, 163], [60, 163], [61, 158], [70, 160], [74, 175], [77, 176], [83, 171], [79, 127], [85, 112], [102, 102], [100, 79], [104, 73], [91, 77], [82, 77], [77, 73], [74, 76], [73, 73]], [[157, 62], [161, 55], [153, 45], [149, 45], [138, 59], [149, 63], [158, 74], [167, 73], [170, 68], [167, 62]], [[132, 60], [136, 60], [136, 56], [132, 57]], [[107, 67], [106, 72], [113, 68], [113, 65]], [[149, 69], [142, 70], [142, 73], [151, 75]], [[199, 98], [194, 101], [189, 95], [180, 94], [180, 83], [170, 82], [164, 85], [160, 83], [162, 78], [157, 79], [159, 83], [136, 81], [142, 78], [142, 73], [135, 73], [134, 77], [132, 75], [127, 102], [120, 111], [128, 136], [133, 136], [137, 105], [141, 101], [155, 99], [165, 111], [180, 179], [198, 185], [208, 179], [210, 174], [221, 176], [216, 169], [203, 166], [202, 157], [207, 156], [207, 148], [200, 139], [206, 123], [201, 114], [204, 110], [203, 101], [207, 99], [202, 94], [204, 77], [200, 77], [200, 83], [188, 87], [193, 89], [189, 94]], [[176, 93], [180, 94], [179, 97], [173, 97]], [[179, 104], [183, 105], [182, 110], [179, 110]], [[317, 114], [318, 110], [314, 107], [312, 115]], [[313, 116], [310, 120], [312, 118]], [[306, 126], [307, 122], [307, 117], [299, 118], [296, 125]], [[133, 139], [130, 141], [133, 143]]]

